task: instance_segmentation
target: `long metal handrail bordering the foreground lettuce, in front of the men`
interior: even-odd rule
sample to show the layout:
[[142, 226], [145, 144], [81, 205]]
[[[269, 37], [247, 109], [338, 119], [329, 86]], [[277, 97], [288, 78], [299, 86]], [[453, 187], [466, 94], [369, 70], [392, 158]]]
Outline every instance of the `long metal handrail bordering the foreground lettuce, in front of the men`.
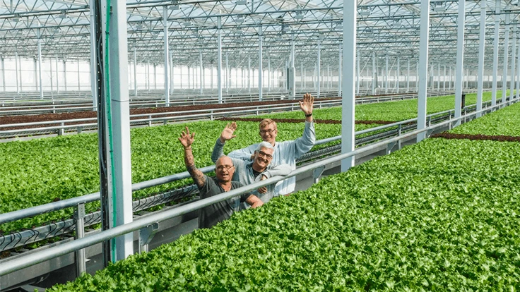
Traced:
[[[502, 105], [497, 104], [495, 107], [500, 107], [500, 106], [502, 106]], [[495, 107], [492, 107], [491, 109], [495, 109]], [[490, 110], [490, 108], [483, 109], [481, 111], [474, 112], [471, 115], [483, 113], [483, 112], [489, 111], [489, 110]], [[114, 227], [112, 229], [108, 229], [106, 231], [101, 231], [100, 233], [94, 234], [93, 236], [80, 238], [75, 241], [71, 241], [69, 243], [64, 243], [59, 246], [48, 248], [47, 250], [42, 250], [39, 253], [35, 253], [32, 255], [23, 256], [23, 257], [18, 257], [13, 260], [9, 260], [8, 261], [9, 264], [4, 264], [0, 267], [0, 276], [11, 273], [11, 272], [15, 272], [15, 271], [17, 271], [19, 269], [23, 269], [25, 267], [30, 267], [33, 264], [39, 264], [40, 262], [45, 262], [47, 260], [53, 259], [55, 257], [59, 257], [61, 255], [66, 255], [67, 253], [71, 253], [76, 250], [81, 250], [83, 248], [87, 248], [88, 246], [94, 245], [96, 243], [102, 243], [103, 241], [110, 240], [117, 236], [122, 236], [126, 233], [137, 231], [143, 227], [149, 226], [150, 224], [155, 224], [158, 222], [165, 221], [167, 219], [179, 217], [183, 214], [187, 214], [189, 212], [196, 211], [203, 207], [213, 205], [216, 202], [222, 202], [223, 200], [228, 200], [231, 197], [236, 197], [237, 195], [242, 195], [243, 193], [247, 193], [249, 191], [256, 190], [256, 189], [264, 187], [266, 185], [271, 185], [272, 183], [277, 183], [278, 181], [283, 181], [286, 178], [290, 178], [293, 176], [297, 176], [299, 174], [303, 174], [307, 171], [317, 169], [318, 167], [326, 166], [327, 164], [331, 164], [333, 162], [338, 162], [343, 159], [347, 159], [349, 157], [353, 157], [355, 155], [361, 154], [363, 152], [374, 150], [378, 147], [388, 145], [389, 143], [398, 142], [399, 140], [410, 138], [410, 137], [413, 137], [414, 135], [418, 135], [420, 133], [427, 132], [429, 130], [434, 130], [435, 128], [439, 128], [444, 125], [448, 125], [448, 124], [451, 125], [451, 123], [456, 123], [458, 121], [461, 121], [464, 118], [467, 118], [467, 116], [465, 115], [465, 116], [460, 116], [459, 118], [452, 118], [448, 121], [438, 123], [435, 126], [425, 127], [420, 130], [413, 130], [410, 133], [406, 133], [404, 135], [401, 135], [401, 136], [398, 136], [395, 138], [391, 138], [389, 140], [376, 142], [372, 145], [361, 147], [358, 150], [354, 150], [352, 152], [337, 154], [333, 157], [323, 159], [319, 162], [307, 164], [306, 166], [302, 166], [298, 169], [295, 169], [294, 171], [291, 171], [290, 174], [288, 174], [288, 176], [274, 176], [274, 177], [268, 178], [264, 181], [259, 181], [257, 183], [252, 183], [250, 185], [246, 185], [241, 188], [230, 190], [229, 192], [225, 192], [225, 193], [222, 193], [219, 195], [214, 195], [212, 197], [197, 200], [196, 202], [192, 202], [187, 205], [182, 205], [177, 208], [166, 210], [165, 212], [158, 212], [155, 214], [150, 214], [150, 216], [145, 217], [143, 219], [138, 219], [138, 220], [132, 221], [128, 224], [116, 226], [116, 227]]]

